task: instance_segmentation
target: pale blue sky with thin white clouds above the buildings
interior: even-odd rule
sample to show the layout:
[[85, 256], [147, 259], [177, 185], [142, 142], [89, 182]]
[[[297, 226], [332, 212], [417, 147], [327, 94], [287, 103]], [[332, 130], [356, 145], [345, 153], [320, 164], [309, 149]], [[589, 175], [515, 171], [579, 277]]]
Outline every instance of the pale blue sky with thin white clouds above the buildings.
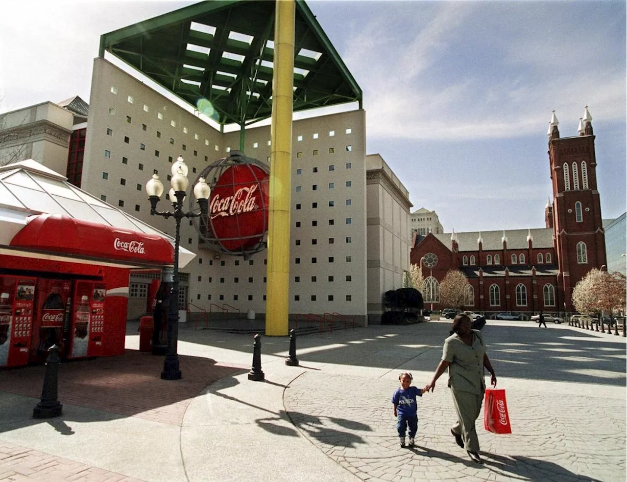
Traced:
[[[10, 2], [0, 112], [88, 100], [100, 35], [189, 1]], [[603, 218], [627, 210], [626, 1], [307, 2], [364, 92], [379, 153], [445, 231], [544, 227], [547, 129], [596, 135]]]

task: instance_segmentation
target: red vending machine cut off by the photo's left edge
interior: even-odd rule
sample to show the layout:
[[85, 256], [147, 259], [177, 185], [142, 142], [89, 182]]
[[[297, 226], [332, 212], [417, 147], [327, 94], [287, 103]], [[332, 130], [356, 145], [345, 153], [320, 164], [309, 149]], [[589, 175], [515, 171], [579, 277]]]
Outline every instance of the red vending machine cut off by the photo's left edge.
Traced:
[[0, 276], [0, 367], [26, 365], [35, 278]]

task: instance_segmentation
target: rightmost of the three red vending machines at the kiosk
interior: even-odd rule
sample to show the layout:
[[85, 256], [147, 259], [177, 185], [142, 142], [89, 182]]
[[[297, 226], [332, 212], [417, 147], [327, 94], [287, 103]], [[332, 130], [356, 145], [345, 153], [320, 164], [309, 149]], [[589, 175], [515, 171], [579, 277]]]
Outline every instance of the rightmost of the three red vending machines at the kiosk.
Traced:
[[72, 310], [70, 358], [102, 355], [105, 321], [105, 292], [103, 284], [76, 281]]

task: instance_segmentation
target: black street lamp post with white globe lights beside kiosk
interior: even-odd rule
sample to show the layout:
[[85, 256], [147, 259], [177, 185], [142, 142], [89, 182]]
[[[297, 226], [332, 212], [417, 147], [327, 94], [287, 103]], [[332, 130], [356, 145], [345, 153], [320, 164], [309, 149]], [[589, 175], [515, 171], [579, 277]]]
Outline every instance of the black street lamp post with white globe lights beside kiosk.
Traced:
[[163, 184], [159, 176], [152, 175], [152, 179], [146, 183], [146, 193], [150, 200], [150, 214], [163, 216], [164, 218], [174, 217], [176, 220], [176, 234], [174, 236], [174, 272], [172, 276], [172, 290], [170, 292], [169, 313], [167, 315], [167, 353], [163, 362], [161, 378], [164, 380], [181, 379], [179, 369], [179, 355], [177, 345], [179, 341], [179, 244], [181, 243], [181, 219], [206, 216], [209, 206], [209, 194], [211, 189], [204, 178], [199, 178], [194, 186], [194, 196], [200, 211], [194, 210], [184, 212], [182, 210], [183, 200], [186, 196], [189, 180], [187, 180], [187, 165], [183, 158], [179, 156], [172, 165], [172, 188], [170, 190], [170, 200], [172, 201], [172, 211], [157, 211], [157, 203], [163, 194]]

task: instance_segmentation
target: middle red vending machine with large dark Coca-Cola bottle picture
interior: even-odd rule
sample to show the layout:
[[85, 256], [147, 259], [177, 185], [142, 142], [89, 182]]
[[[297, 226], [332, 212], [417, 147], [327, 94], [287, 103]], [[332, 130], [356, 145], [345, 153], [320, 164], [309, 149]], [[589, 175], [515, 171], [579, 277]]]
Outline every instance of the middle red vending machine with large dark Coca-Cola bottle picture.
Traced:
[[61, 357], [67, 353], [64, 320], [71, 306], [71, 281], [38, 278], [35, 290], [33, 337], [29, 362], [41, 363], [48, 356], [48, 348], [56, 344]]

